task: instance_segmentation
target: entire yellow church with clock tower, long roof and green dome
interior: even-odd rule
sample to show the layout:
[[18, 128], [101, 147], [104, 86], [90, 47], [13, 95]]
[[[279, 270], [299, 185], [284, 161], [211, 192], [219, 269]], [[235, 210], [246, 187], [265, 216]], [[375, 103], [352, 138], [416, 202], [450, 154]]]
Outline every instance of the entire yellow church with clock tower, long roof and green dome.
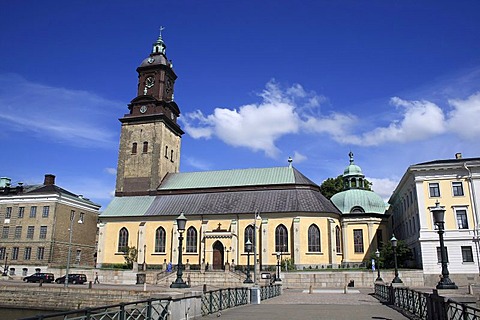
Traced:
[[279, 259], [299, 270], [361, 266], [388, 241], [387, 205], [365, 190], [352, 153], [345, 190], [332, 200], [291, 160], [284, 167], [179, 172], [177, 75], [161, 34], [137, 72], [137, 96], [120, 119], [115, 197], [99, 217], [98, 267], [123, 264], [132, 247], [139, 265], [176, 264], [181, 214], [182, 262], [192, 269], [255, 263], [264, 270]]

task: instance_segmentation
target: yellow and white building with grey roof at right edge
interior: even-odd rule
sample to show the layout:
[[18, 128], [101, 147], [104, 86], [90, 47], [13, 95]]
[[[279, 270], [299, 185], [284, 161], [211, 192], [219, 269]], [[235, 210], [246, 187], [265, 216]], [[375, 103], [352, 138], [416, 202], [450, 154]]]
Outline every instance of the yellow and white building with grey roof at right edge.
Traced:
[[393, 192], [389, 203], [395, 236], [405, 240], [414, 254], [414, 266], [438, 280], [441, 251], [431, 209], [445, 209], [444, 242], [448, 269], [456, 282], [477, 279], [478, 193], [480, 158], [435, 160], [411, 165]]

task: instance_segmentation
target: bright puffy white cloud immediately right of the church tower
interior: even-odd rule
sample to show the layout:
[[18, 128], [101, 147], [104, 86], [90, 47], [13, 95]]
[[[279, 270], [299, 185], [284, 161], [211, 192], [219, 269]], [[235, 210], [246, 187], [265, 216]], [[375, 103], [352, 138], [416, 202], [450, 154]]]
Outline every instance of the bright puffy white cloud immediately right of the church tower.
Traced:
[[284, 93], [271, 81], [260, 94], [263, 101], [238, 109], [216, 108], [204, 116], [200, 111], [187, 114], [182, 122], [193, 138], [215, 136], [228, 145], [263, 151], [276, 157], [279, 150], [275, 142], [282, 136], [299, 131], [300, 119], [295, 112], [295, 99], [307, 94], [295, 85]]

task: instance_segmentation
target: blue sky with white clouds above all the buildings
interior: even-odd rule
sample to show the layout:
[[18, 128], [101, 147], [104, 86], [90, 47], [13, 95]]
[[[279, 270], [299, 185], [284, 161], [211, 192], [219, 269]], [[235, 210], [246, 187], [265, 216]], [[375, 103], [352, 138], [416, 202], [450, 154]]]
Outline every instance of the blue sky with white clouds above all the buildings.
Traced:
[[409, 165], [480, 156], [479, 1], [9, 1], [0, 175], [103, 206], [119, 118], [165, 26], [181, 171], [293, 165], [321, 184], [353, 151], [388, 198]]

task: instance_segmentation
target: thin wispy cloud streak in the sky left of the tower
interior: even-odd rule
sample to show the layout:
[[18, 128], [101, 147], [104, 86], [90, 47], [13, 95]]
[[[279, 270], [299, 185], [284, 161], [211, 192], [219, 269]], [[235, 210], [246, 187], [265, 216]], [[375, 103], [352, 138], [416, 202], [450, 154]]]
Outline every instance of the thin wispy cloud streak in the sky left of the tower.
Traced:
[[0, 123], [4, 130], [30, 132], [76, 146], [111, 148], [117, 132], [106, 129], [108, 108], [117, 102], [96, 94], [33, 83], [14, 75], [0, 75]]

